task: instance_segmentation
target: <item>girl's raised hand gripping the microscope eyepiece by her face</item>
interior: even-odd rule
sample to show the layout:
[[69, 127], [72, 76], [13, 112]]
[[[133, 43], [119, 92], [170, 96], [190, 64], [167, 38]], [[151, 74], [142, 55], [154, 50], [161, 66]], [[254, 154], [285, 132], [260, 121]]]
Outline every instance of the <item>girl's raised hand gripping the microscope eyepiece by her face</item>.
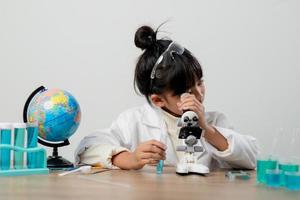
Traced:
[[177, 103], [178, 109], [182, 112], [186, 110], [194, 111], [199, 117], [199, 126], [206, 130], [208, 128], [205, 120], [205, 108], [195, 95], [184, 93], [180, 98], [181, 102]]

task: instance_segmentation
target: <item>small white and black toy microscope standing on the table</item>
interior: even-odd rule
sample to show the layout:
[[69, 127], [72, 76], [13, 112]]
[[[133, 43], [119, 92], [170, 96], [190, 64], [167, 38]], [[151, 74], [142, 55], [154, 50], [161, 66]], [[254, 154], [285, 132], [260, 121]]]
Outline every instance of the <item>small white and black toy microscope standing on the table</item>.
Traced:
[[185, 111], [181, 116], [178, 126], [181, 127], [178, 139], [183, 145], [176, 147], [176, 151], [184, 152], [176, 167], [176, 173], [187, 175], [189, 173], [208, 174], [209, 168], [197, 163], [195, 152], [203, 152], [201, 145], [202, 129], [198, 125], [198, 115], [193, 111]]

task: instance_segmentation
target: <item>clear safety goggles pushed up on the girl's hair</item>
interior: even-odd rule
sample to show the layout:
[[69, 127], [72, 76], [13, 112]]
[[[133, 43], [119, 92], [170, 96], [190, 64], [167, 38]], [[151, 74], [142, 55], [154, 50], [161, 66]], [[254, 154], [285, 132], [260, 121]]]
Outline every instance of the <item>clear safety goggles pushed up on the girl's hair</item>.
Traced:
[[153, 79], [155, 79], [155, 75], [156, 75], [156, 69], [158, 67], [158, 65], [167, 57], [167, 56], [171, 56], [172, 60], [174, 60], [174, 54], [177, 55], [182, 55], [184, 52], [184, 47], [182, 47], [181, 45], [179, 45], [176, 42], [171, 42], [168, 46], [168, 48], [159, 56], [159, 58], [157, 59], [157, 61], [154, 64], [154, 67], [151, 71], [151, 75], [150, 75], [150, 79], [151, 79], [151, 88], [152, 88], [152, 81]]

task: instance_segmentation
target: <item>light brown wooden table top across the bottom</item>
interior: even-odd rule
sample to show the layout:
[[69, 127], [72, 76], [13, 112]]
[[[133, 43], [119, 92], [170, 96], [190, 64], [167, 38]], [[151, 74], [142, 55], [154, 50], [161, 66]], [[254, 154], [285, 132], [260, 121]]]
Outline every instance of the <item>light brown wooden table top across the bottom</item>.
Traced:
[[165, 167], [159, 176], [154, 167], [145, 167], [138, 171], [111, 170], [62, 177], [57, 173], [0, 177], [0, 199], [300, 200], [300, 192], [257, 185], [255, 171], [251, 171], [250, 180], [229, 181], [224, 171], [208, 176], [179, 176], [173, 167]]

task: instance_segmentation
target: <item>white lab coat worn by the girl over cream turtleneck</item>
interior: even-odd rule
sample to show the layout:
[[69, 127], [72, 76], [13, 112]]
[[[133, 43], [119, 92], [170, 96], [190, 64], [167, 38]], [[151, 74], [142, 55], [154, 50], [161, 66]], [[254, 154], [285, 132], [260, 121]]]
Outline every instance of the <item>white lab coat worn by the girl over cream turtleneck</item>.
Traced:
[[[221, 113], [207, 112], [206, 120], [227, 139], [229, 147], [223, 152], [218, 151], [202, 137], [205, 150], [196, 153], [198, 162], [211, 170], [214, 168], [254, 169], [258, 151], [256, 139], [235, 132]], [[100, 163], [105, 167], [114, 168], [111, 163], [113, 155], [124, 150], [134, 151], [141, 142], [151, 139], [160, 140], [162, 135], [167, 133], [160, 110], [145, 104], [121, 113], [110, 128], [97, 130], [86, 136], [75, 151], [75, 161], [77, 164]], [[166, 164], [176, 165], [178, 162], [175, 148], [170, 137], [167, 136]], [[86, 153], [90, 150], [94, 150], [92, 155]], [[85, 153], [88, 156], [85, 156]]]

